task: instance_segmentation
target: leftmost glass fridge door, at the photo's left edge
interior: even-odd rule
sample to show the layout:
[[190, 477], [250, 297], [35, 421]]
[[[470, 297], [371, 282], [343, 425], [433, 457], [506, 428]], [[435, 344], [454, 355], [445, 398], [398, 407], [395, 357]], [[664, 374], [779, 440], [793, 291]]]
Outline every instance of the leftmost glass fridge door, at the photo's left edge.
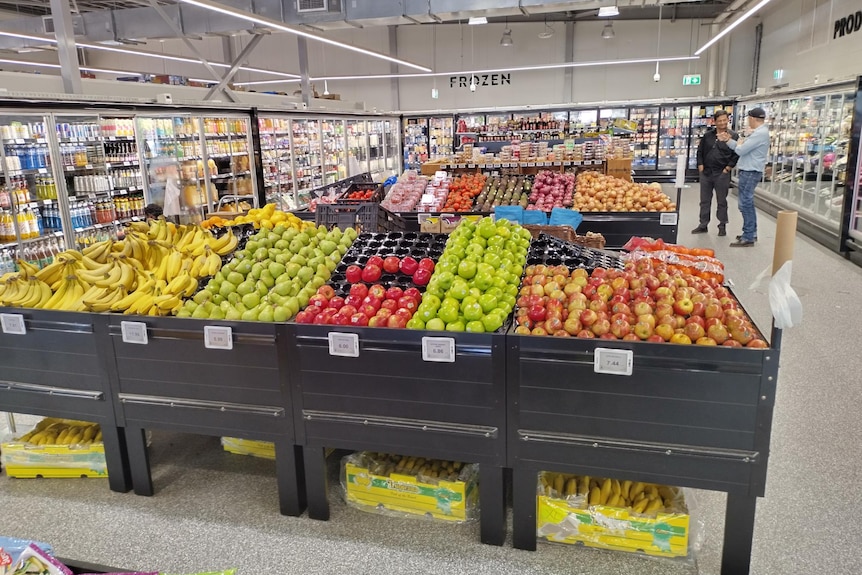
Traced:
[[16, 271], [19, 259], [44, 267], [66, 249], [62, 166], [52, 158], [49, 130], [40, 115], [0, 115], [0, 275]]

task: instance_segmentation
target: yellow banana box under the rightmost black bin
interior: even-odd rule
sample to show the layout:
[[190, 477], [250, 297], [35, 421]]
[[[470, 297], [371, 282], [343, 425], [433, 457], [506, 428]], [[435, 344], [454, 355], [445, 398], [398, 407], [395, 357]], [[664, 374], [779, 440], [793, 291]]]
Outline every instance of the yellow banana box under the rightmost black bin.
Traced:
[[691, 516], [677, 487], [542, 472], [537, 536], [557, 543], [687, 557]]

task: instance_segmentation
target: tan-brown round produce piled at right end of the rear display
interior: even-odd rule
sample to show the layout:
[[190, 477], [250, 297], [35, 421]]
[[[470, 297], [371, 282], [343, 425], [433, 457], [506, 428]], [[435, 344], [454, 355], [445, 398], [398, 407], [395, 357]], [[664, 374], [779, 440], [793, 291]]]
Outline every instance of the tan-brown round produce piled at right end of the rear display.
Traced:
[[580, 172], [574, 209], [581, 212], [672, 212], [661, 184], [636, 184], [599, 172]]

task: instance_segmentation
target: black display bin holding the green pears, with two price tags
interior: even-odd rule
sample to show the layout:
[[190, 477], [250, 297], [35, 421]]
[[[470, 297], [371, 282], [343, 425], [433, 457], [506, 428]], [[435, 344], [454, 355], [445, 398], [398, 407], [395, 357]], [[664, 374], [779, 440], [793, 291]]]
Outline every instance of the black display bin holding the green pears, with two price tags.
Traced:
[[[122, 322], [147, 326], [146, 345], [125, 343]], [[207, 326], [232, 330], [232, 349], [205, 347]], [[114, 316], [112, 379], [135, 493], [152, 495], [144, 432], [169, 429], [275, 443], [279, 503], [304, 510], [302, 455], [295, 447], [283, 324]]]

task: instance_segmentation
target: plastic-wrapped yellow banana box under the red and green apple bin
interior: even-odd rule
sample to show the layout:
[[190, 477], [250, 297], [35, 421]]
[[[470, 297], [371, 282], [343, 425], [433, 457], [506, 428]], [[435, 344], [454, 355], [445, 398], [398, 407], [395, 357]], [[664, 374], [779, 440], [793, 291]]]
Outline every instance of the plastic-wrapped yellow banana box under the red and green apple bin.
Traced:
[[341, 460], [341, 485], [353, 507], [461, 523], [477, 518], [479, 466], [361, 452]]

